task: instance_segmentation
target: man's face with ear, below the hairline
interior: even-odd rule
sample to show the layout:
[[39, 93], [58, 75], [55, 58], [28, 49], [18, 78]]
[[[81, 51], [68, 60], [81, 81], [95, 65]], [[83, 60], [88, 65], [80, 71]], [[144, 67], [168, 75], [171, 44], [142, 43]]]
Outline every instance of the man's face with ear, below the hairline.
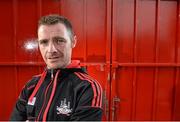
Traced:
[[38, 29], [38, 44], [48, 69], [65, 68], [71, 62], [72, 41], [66, 27], [61, 24], [41, 25]]

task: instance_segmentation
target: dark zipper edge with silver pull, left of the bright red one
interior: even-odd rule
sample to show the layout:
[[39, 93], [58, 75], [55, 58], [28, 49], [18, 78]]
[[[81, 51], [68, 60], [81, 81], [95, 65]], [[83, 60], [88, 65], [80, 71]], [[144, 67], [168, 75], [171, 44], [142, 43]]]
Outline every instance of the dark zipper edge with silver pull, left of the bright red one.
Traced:
[[48, 93], [48, 91], [49, 91], [49, 88], [50, 88], [50, 86], [51, 86], [51, 84], [52, 84], [52, 82], [53, 82], [53, 78], [54, 78], [54, 74], [53, 74], [53, 69], [51, 69], [51, 81], [50, 81], [50, 83], [48, 84], [48, 86], [46, 87], [46, 89], [45, 89], [45, 94], [44, 94], [44, 101], [43, 101], [43, 105], [42, 105], [42, 107], [41, 107], [41, 110], [40, 110], [40, 112], [39, 112], [39, 115], [38, 115], [38, 117], [37, 117], [37, 121], [38, 120], [40, 120], [40, 116], [41, 116], [41, 114], [42, 114], [42, 111], [43, 111], [43, 108], [45, 107], [45, 103], [46, 103], [46, 101], [47, 101], [47, 93]]

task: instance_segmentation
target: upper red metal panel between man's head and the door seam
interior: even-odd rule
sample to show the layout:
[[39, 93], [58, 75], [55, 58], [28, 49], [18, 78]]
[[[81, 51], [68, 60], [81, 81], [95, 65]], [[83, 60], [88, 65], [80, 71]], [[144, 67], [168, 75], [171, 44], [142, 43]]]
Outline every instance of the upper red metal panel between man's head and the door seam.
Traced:
[[[62, 14], [75, 25], [78, 44], [73, 58], [84, 62], [102, 62], [106, 55], [106, 1], [68, 0], [62, 2]], [[94, 17], [96, 19], [94, 19]]]

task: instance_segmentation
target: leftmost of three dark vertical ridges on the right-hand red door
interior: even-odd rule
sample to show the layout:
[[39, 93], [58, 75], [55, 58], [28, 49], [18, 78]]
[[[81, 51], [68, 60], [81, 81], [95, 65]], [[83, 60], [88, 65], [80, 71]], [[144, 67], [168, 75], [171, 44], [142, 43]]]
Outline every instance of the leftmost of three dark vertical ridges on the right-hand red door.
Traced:
[[[134, 34], [133, 34], [133, 63], [137, 62], [137, 0], [134, 0]], [[131, 120], [136, 119], [136, 96], [137, 96], [137, 67], [133, 68], [133, 81], [132, 81], [132, 113]]]

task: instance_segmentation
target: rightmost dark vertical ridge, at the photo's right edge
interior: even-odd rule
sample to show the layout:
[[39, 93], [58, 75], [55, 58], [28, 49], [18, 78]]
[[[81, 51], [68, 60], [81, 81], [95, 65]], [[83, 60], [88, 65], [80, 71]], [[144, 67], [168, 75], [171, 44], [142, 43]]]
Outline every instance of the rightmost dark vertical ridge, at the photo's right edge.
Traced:
[[[179, 44], [179, 21], [180, 21], [180, 2], [179, 0], [177, 1], [177, 14], [176, 14], [176, 41], [175, 41], [175, 63], [178, 63], [178, 44]], [[179, 80], [179, 67], [175, 68], [175, 82], [174, 82], [174, 95], [173, 95], [173, 104], [172, 104], [172, 114], [171, 114], [171, 119], [176, 120], [176, 96], [177, 96], [177, 89], [178, 89], [178, 80]]]

